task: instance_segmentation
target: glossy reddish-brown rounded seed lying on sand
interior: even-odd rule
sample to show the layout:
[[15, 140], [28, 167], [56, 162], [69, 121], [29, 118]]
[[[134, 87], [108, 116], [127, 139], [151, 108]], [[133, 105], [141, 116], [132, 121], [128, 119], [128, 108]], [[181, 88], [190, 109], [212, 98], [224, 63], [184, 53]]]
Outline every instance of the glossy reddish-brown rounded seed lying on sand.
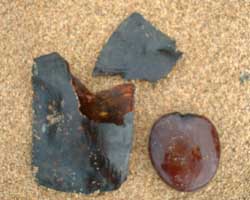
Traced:
[[168, 185], [180, 191], [194, 191], [215, 175], [220, 143], [207, 118], [171, 113], [154, 124], [149, 152], [156, 171]]

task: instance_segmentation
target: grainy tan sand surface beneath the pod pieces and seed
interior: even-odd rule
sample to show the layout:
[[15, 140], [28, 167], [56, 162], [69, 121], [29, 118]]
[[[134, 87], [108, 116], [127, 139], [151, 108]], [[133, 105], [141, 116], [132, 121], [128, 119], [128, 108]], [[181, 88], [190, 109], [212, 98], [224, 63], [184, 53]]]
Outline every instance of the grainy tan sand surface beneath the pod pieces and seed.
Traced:
[[[87, 197], [39, 187], [31, 173], [31, 66], [52, 51], [70, 63], [91, 90], [123, 83], [92, 78], [104, 42], [139, 11], [177, 41], [184, 57], [151, 85], [135, 81], [135, 140], [130, 176], [120, 190]], [[0, 199], [247, 200], [250, 199], [250, 1], [248, 0], [1, 0]], [[147, 143], [153, 122], [179, 111], [204, 114], [216, 125], [221, 163], [210, 184], [180, 193], [156, 175]]]

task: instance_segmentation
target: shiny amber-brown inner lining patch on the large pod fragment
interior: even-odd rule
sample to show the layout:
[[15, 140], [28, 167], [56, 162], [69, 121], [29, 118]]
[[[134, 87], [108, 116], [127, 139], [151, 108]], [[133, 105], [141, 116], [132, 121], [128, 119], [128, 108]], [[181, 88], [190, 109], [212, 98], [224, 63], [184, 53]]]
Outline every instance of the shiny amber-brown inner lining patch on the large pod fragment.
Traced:
[[96, 94], [75, 77], [72, 77], [72, 84], [79, 98], [80, 111], [91, 120], [121, 125], [124, 115], [133, 111], [133, 84], [118, 85]]

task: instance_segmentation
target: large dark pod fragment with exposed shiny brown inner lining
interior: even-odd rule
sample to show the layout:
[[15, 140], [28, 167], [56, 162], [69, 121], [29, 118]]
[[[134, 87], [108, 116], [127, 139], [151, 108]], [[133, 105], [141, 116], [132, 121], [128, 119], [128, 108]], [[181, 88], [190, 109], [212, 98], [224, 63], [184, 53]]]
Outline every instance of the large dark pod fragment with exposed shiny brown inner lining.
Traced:
[[57, 53], [35, 59], [32, 83], [37, 181], [86, 194], [119, 188], [132, 146], [134, 86], [92, 94]]

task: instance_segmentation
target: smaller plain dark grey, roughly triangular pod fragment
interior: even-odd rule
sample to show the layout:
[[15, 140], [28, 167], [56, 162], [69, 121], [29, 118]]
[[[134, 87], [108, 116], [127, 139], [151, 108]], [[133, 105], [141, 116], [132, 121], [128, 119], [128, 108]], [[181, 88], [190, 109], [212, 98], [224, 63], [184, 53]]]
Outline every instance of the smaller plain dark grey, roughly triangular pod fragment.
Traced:
[[120, 74], [127, 80], [155, 82], [171, 71], [181, 55], [174, 40], [133, 13], [105, 44], [93, 75]]

